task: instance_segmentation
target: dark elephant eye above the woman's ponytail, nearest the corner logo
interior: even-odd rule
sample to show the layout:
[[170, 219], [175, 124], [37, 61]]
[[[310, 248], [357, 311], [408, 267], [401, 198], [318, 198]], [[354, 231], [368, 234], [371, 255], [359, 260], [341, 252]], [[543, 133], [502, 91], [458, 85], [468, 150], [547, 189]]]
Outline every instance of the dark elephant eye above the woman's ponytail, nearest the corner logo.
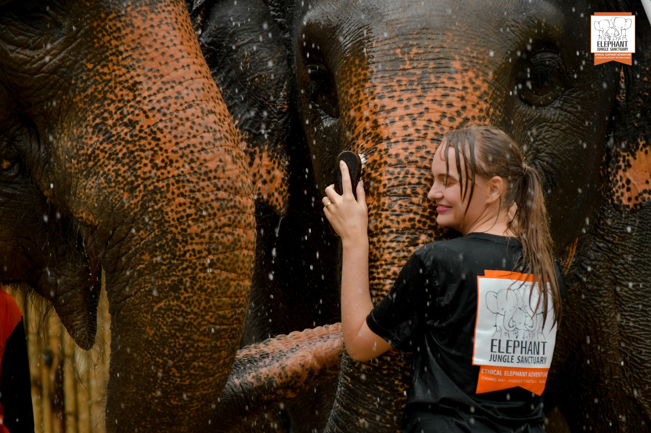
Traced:
[[558, 99], [567, 86], [567, 74], [559, 53], [542, 51], [529, 57], [518, 76], [520, 98], [534, 107]]

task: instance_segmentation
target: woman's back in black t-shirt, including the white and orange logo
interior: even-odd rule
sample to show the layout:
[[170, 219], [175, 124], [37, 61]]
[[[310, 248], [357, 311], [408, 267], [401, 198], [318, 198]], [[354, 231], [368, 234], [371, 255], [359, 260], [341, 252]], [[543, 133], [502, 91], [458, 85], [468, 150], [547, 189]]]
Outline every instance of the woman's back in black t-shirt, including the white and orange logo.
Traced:
[[[538, 317], [533, 309], [527, 316], [525, 286], [489, 278], [518, 270], [521, 254], [517, 239], [486, 233], [428, 244], [369, 315], [372, 331], [414, 354], [408, 417], [437, 413], [437, 423], [448, 419], [456, 426], [451, 431], [542, 423], [540, 382], [544, 387], [555, 328], [549, 321], [544, 334], [534, 330]], [[510, 291], [510, 304], [493, 296], [500, 290]], [[484, 358], [473, 360], [477, 355]]]

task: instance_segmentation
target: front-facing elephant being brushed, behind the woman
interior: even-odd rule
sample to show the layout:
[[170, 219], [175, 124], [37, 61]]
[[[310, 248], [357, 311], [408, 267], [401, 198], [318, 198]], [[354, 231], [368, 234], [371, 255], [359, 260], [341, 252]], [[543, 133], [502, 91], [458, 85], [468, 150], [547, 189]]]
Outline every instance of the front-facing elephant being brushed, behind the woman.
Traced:
[[[454, 236], [425, 200], [443, 133], [492, 124], [541, 173], [566, 271], [546, 407], [572, 431], [649, 422], [648, 374], [638, 368], [648, 360], [640, 295], [651, 281], [642, 265], [651, 244], [651, 30], [641, 5], [196, 0], [189, 9], [255, 173], [252, 296], [268, 302], [249, 306], [254, 332], [243, 343], [337, 320], [339, 245], [318, 202], [340, 151], [367, 159], [377, 303], [419, 246]], [[635, 61], [594, 66], [590, 15], [621, 10], [638, 17]], [[327, 419], [290, 419], [290, 429], [397, 431], [408, 377], [409, 354], [359, 363], [344, 353]]]

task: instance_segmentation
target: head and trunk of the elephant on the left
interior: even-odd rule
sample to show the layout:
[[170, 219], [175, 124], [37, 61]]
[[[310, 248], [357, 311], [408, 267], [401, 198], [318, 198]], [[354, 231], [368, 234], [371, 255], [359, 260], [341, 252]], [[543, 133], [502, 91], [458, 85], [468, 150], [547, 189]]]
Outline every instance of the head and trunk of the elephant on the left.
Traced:
[[51, 300], [89, 347], [105, 272], [107, 430], [209, 429], [255, 220], [184, 3], [0, 1], [0, 164], [3, 282]]

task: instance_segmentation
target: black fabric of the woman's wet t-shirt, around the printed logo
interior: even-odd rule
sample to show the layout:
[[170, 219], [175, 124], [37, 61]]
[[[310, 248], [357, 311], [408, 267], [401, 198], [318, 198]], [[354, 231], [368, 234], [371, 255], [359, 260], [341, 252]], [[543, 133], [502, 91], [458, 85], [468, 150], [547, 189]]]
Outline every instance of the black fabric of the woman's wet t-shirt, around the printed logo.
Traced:
[[[490, 309], [494, 310], [492, 318], [482, 321], [484, 328], [488, 320], [492, 321], [490, 333], [495, 332], [495, 339], [492, 339], [493, 335], [486, 334], [486, 329], [484, 334], [477, 333], [478, 338], [482, 338], [482, 347], [486, 350], [495, 349], [495, 355], [500, 352], [501, 356], [508, 356], [508, 359], [499, 358], [499, 361], [507, 362], [502, 365], [509, 365], [509, 361], [514, 366], [519, 365], [515, 362], [521, 359], [520, 354], [534, 353], [532, 344], [537, 344], [537, 348], [542, 347], [541, 344], [546, 346], [545, 354], [549, 358], [522, 356], [523, 360], [546, 361], [547, 364], [551, 360], [553, 341], [549, 336], [549, 341], [540, 337], [542, 343], [538, 343], [532, 341], [538, 339], [537, 335], [532, 337], [534, 331], [525, 332], [525, 325], [531, 327], [536, 322], [535, 313], [530, 312], [529, 317], [518, 319], [518, 315], [505, 313], [504, 308], [501, 311], [495, 306], [489, 309], [488, 298], [493, 295], [493, 302], [497, 302], [499, 291], [483, 291], [483, 299], [478, 304], [478, 277], [482, 278], [495, 271], [503, 271], [504, 274], [520, 272], [521, 269], [516, 269], [516, 265], [521, 254], [522, 246], [517, 239], [487, 233], [469, 233], [450, 241], [426, 244], [411, 256], [389, 295], [368, 315], [367, 324], [373, 332], [398, 350], [414, 354], [405, 410], [408, 426], [419, 426], [413, 431], [420, 431], [422, 426], [436, 426], [440, 429], [436, 431], [450, 432], [542, 432], [542, 395], [519, 386], [476, 392], [482, 365], [473, 365], [473, 355], [477, 355], [473, 354], [473, 350], [480, 308], [483, 308], [482, 318], [492, 314]], [[562, 294], [564, 280], [558, 265], [557, 274]], [[516, 283], [512, 287], [517, 288], [519, 285]], [[508, 299], [520, 299], [522, 307], [523, 296], [513, 296], [514, 293], [515, 291], [510, 292]], [[523, 310], [524, 308], [518, 310], [519, 315], [523, 315]], [[540, 314], [538, 316], [542, 317]], [[507, 317], [506, 321], [504, 317]], [[553, 314], [548, 313], [546, 332], [551, 328], [549, 324], [552, 317]], [[528, 323], [523, 324], [527, 320]], [[502, 342], [498, 341], [500, 333], [505, 339]], [[555, 341], [555, 332], [551, 335]], [[508, 350], [505, 349], [507, 343]], [[525, 348], [518, 348], [516, 352], [513, 350], [514, 345]], [[538, 352], [535, 354], [540, 355]], [[521, 370], [515, 367], [495, 368], [506, 369], [509, 373]], [[505, 373], [502, 371], [495, 374]], [[546, 377], [546, 373], [544, 375]], [[497, 376], [493, 380], [501, 380], [501, 377]], [[432, 430], [426, 428], [424, 431]]]

